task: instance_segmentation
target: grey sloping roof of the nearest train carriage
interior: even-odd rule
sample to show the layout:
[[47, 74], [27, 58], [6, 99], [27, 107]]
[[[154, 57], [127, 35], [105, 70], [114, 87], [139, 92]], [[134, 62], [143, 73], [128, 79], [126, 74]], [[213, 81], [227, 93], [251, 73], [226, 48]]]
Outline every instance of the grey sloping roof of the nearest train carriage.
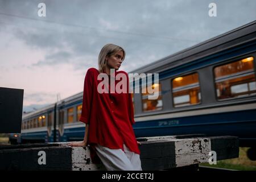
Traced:
[[[241, 27], [235, 28], [234, 30], [228, 31], [224, 34], [218, 35], [214, 38], [205, 40], [204, 42], [196, 44], [195, 46], [183, 49], [182, 51], [176, 52], [170, 56], [163, 57], [162, 59], [154, 61], [153, 63], [144, 65], [143, 67], [140, 67], [138, 69], [134, 69], [129, 73], [159, 73], [170, 68], [167, 66], [168, 64], [174, 65], [174, 62], [180, 62], [180, 60], [184, 60], [187, 57], [191, 57], [193, 55], [196, 55], [197, 53], [206, 51], [216, 46], [220, 46], [221, 44], [231, 42], [232, 40], [236, 40], [245, 35], [252, 34], [255, 32], [256, 20], [251, 23], [247, 23]], [[182, 64], [184, 64], [185, 61], [182, 62]]]

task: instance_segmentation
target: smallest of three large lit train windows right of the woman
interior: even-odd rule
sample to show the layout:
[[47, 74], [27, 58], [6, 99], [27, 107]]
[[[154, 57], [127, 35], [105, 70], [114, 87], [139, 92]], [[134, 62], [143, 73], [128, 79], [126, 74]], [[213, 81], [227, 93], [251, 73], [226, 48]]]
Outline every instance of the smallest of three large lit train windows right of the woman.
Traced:
[[[155, 100], [149, 100], [148, 96], [150, 93], [148, 93], [148, 89], [150, 89], [150, 86], [152, 89], [158, 90], [158, 93], [155, 92], [154, 95], [158, 94], [158, 98]], [[143, 111], [153, 111], [153, 110], [161, 110], [163, 109], [163, 101], [162, 101], [162, 94], [161, 94], [161, 84], [153, 84], [148, 87], [142, 88], [142, 104], [143, 104]], [[158, 87], [158, 88], [156, 88]], [[151, 94], [153, 95], [153, 94]]]

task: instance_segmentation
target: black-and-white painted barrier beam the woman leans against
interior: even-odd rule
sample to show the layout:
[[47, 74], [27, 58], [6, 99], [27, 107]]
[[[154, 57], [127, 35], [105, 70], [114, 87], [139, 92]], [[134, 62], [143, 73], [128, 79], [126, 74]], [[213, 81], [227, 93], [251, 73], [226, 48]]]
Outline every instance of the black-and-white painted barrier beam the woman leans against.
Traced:
[[[238, 157], [237, 137], [197, 136], [199, 135], [138, 138], [142, 143], [139, 146], [142, 169], [161, 170], [207, 163], [210, 151], [216, 152], [217, 160]], [[0, 169], [105, 170], [103, 164], [92, 163], [89, 147], [70, 147], [67, 144], [61, 142], [2, 146]]]

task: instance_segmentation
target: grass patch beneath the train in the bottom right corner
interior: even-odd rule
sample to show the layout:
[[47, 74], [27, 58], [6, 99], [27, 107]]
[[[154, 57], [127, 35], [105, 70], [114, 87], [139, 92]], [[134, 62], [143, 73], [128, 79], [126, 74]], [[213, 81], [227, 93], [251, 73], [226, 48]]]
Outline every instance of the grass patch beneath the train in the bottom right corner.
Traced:
[[236, 170], [242, 170], [242, 171], [256, 171], [256, 161], [252, 161], [247, 158], [246, 152], [248, 149], [249, 148], [247, 147], [240, 147], [239, 158], [219, 160], [217, 161], [216, 165], [203, 163], [203, 164], [200, 164], [200, 166], [228, 168], [228, 169], [236, 169]]

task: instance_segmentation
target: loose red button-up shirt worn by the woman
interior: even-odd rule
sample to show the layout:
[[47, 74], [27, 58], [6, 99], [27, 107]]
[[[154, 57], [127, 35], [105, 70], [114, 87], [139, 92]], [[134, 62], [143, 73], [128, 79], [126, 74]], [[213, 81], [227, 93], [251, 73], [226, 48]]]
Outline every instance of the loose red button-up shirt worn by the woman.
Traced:
[[[134, 121], [133, 102], [129, 93], [129, 77], [125, 71], [115, 71], [115, 76], [125, 73], [127, 93], [98, 93], [97, 80], [100, 74], [96, 68], [89, 68], [84, 80], [82, 113], [79, 121], [89, 124], [88, 144], [100, 144], [112, 149], [121, 148], [123, 144], [130, 151], [140, 154], [132, 125]], [[121, 80], [115, 80], [115, 85]], [[110, 76], [109, 76], [110, 83]]]

